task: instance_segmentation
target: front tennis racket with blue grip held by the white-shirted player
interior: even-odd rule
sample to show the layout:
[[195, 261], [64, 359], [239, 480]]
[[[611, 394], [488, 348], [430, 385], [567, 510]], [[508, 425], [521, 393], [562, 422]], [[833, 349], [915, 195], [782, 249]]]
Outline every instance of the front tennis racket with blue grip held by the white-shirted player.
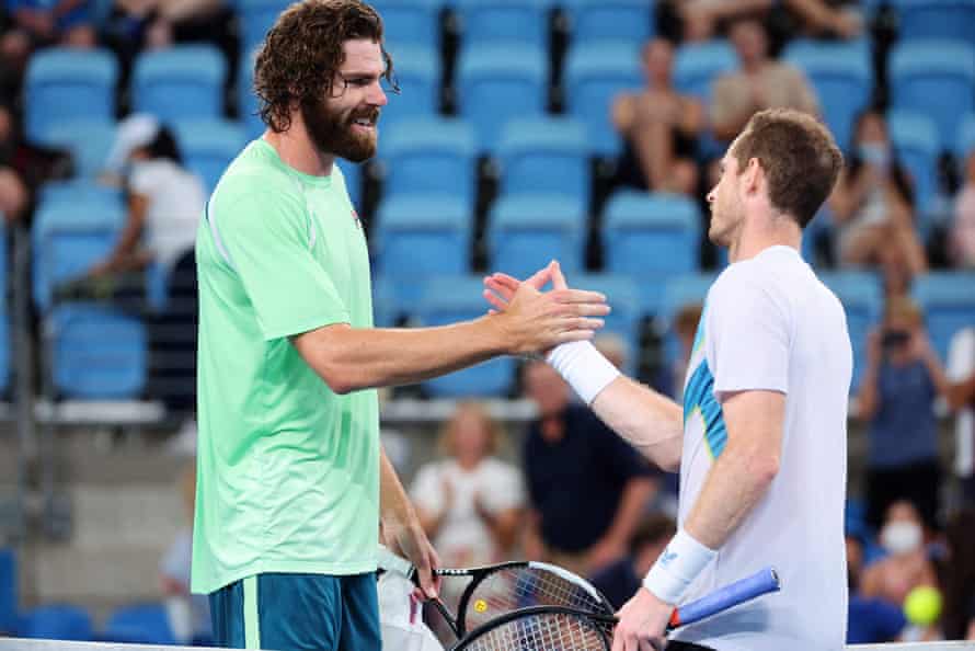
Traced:
[[[674, 610], [667, 631], [781, 589], [771, 568]], [[560, 606], [532, 606], [472, 630], [452, 651], [610, 651], [616, 617]]]

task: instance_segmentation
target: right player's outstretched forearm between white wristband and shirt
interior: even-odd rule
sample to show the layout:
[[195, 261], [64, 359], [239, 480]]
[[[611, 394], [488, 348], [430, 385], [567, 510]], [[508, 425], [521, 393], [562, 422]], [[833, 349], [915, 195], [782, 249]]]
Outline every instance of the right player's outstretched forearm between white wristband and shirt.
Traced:
[[596, 396], [592, 409], [613, 432], [664, 470], [680, 465], [684, 410], [669, 398], [620, 376]]

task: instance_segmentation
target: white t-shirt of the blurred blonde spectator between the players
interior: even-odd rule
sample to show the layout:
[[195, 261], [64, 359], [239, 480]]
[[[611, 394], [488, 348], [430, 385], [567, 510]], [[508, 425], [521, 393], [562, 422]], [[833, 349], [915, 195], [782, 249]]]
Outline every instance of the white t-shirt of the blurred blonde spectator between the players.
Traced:
[[434, 537], [434, 547], [447, 567], [470, 567], [496, 562], [497, 550], [491, 532], [474, 509], [474, 498], [490, 513], [518, 509], [525, 504], [525, 489], [517, 468], [493, 457], [468, 472], [456, 460], [446, 459], [423, 466], [413, 481], [414, 503], [431, 512], [444, 507], [444, 482], [450, 483], [454, 503]]

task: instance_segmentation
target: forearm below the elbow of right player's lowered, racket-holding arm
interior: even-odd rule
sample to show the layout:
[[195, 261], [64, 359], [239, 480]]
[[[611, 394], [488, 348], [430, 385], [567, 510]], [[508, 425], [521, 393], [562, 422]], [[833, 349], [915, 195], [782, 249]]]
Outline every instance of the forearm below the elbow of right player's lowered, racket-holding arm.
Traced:
[[684, 528], [701, 545], [719, 549], [758, 504], [777, 473], [777, 458], [725, 447]]

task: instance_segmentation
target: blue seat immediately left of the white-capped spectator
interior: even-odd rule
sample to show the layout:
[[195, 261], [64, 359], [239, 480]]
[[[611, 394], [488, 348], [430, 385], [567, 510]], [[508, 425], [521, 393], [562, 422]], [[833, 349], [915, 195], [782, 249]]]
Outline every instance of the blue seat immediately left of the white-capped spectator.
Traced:
[[50, 307], [57, 283], [83, 274], [112, 250], [124, 219], [118, 193], [72, 184], [47, 195], [31, 227], [33, 294], [38, 308]]

